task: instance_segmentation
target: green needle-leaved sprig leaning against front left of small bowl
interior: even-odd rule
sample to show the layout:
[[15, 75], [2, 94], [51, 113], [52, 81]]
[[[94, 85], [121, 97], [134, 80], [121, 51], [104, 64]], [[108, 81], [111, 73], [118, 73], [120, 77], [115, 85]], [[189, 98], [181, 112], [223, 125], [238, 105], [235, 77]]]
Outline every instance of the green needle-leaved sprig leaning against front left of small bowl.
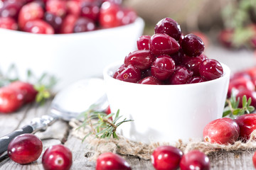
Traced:
[[[122, 115], [119, 116], [119, 110], [117, 113], [110, 113], [107, 115], [104, 112], [96, 111], [97, 105], [92, 105], [90, 108], [82, 113], [79, 117], [83, 117], [84, 121], [79, 128], [85, 128], [86, 126], [90, 127], [90, 132], [83, 138], [85, 138], [91, 134], [95, 135], [97, 138], [110, 138], [113, 137], [118, 139], [117, 128], [122, 123], [130, 122], [133, 120], [127, 120], [124, 118], [122, 121], [118, 121], [122, 118]], [[114, 117], [114, 120], [112, 118]], [[97, 121], [96, 121], [97, 120]], [[95, 122], [96, 121], [96, 122]], [[82, 140], [82, 141], [83, 141]]]

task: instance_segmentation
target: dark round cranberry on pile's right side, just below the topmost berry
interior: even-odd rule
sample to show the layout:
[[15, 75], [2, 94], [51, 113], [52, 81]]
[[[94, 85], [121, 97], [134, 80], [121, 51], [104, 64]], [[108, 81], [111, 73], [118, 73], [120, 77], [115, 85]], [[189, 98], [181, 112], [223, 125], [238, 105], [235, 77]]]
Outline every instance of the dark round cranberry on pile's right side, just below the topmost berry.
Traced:
[[184, 37], [181, 47], [183, 52], [190, 57], [197, 57], [204, 50], [204, 44], [201, 38], [193, 34], [188, 34]]

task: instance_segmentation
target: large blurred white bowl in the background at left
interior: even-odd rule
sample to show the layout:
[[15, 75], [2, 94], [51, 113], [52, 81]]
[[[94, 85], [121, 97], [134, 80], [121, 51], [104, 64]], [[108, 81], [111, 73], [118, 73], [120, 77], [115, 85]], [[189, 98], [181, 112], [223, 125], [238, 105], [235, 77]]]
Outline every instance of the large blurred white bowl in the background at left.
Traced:
[[144, 21], [117, 28], [66, 35], [38, 35], [0, 28], [0, 69], [6, 72], [16, 64], [21, 79], [31, 69], [37, 77], [43, 72], [59, 79], [59, 90], [79, 79], [102, 77], [107, 64], [122, 60], [136, 49]]

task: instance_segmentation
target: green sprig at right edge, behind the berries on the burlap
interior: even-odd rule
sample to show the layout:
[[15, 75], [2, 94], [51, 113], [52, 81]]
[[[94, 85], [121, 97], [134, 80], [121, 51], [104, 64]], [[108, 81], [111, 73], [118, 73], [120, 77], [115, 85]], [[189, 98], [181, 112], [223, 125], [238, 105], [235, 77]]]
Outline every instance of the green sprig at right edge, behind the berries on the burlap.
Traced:
[[252, 98], [247, 100], [247, 97], [242, 96], [242, 108], [238, 108], [240, 98], [236, 99], [234, 91], [232, 91], [231, 97], [226, 100], [226, 107], [224, 108], [223, 117], [229, 116], [230, 118], [238, 117], [246, 113], [252, 113], [255, 110], [252, 103]]

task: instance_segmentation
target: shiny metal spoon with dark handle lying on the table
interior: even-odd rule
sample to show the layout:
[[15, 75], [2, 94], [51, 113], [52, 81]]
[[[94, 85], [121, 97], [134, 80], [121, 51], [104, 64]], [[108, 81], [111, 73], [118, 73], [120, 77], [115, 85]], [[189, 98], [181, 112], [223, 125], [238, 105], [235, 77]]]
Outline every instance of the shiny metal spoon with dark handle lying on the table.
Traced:
[[6, 152], [9, 142], [14, 137], [24, 133], [44, 131], [59, 119], [70, 121], [71, 118], [76, 118], [86, 111], [92, 104], [97, 106], [97, 111], [105, 111], [108, 106], [102, 79], [83, 79], [71, 84], [55, 96], [48, 115], [33, 118], [28, 125], [0, 137], [0, 155]]

